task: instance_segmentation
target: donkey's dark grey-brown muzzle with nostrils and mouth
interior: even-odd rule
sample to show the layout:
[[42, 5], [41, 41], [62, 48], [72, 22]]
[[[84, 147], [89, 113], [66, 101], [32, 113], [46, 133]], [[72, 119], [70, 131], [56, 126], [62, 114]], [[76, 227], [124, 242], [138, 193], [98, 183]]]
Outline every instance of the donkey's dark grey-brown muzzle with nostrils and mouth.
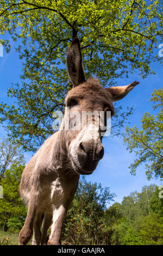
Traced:
[[83, 141], [79, 144], [78, 160], [86, 174], [91, 174], [97, 167], [98, 161], [103, 158], [104, 148], [101, 142]]

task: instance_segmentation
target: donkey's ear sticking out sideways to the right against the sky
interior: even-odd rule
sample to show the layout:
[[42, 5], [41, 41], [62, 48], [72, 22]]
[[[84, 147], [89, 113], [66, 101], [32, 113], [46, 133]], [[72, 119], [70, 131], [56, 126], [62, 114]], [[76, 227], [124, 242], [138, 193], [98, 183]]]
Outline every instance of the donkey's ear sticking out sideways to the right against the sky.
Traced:
[[110, 93], [112, 101], [117, 101], [123, 99], [137, 84], [139, 84], [139, 82], [134, 81], [128, 86], [109, 87], [106, 88], [106, 90]]

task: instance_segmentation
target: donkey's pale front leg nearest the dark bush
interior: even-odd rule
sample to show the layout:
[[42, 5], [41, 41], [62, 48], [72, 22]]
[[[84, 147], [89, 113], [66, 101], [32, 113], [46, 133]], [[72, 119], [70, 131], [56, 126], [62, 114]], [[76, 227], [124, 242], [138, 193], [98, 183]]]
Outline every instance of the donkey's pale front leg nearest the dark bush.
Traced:
[[60, 205], [53, 211], [53, 224], [51, 226], [51, 235], [48, 240], [48, 245], [60, 245], [60, 237], [62, 231], [62, 225], [66, 216], [66, 208], [64, 205]]

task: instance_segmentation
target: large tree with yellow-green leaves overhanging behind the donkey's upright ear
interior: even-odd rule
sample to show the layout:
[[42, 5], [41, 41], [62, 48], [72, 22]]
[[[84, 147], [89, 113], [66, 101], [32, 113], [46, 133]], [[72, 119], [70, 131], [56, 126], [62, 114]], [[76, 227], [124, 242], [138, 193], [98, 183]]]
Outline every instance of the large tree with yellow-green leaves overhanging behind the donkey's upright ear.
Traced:
[[[52, 134], [53, 112], [64, 112], [71, 87], [65, 59], [72, 38], [79, 36], [86, 77], [112, 85], [135, 69], [153, 71], [154, 48], [162, 39], [162, 5], [158, 1], [1, 1], [1, 33], [18, 42], [23, 59], [22, 84], [8, 90], [16, 104], [0, 105], [10, 136], [35, 151]], [[0, 41], [7, 51], [9, 40]], [[130, 112], [131, 110], [127, 111]], [[128, 116], [128, 115], [127, 115]], [[115, 129], [124, 121], [115, 118]]]

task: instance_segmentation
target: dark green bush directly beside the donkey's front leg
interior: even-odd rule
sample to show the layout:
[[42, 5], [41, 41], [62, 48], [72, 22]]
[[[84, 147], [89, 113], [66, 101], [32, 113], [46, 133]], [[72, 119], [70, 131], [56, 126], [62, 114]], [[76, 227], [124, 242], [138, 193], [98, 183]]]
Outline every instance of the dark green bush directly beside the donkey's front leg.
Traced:
[[72, 206], [67, 212], [62, 233], [66, 244], [76, 245], [108, 245], [111, 230], [108, 226], [111, 210], [106, 204], [115, 197], [108, 187], [101, 184], [80, 180]]

